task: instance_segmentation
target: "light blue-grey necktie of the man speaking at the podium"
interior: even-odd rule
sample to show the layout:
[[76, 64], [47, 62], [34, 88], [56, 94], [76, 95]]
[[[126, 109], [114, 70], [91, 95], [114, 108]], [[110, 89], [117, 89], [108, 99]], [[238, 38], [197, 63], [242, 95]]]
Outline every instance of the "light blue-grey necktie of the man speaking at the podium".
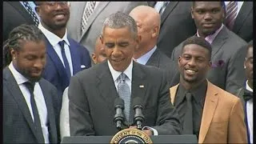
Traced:
[[120, 74], [120, 76], [119, 76], [118, 95], [125, 102], [124, 112], [125, 112], [125, 116], [126, 116], [126, 121], [129, 122], [129, 116], [130, 116], [130, 87], [126, 83], [126, 74], [124, 74], [124, 73]]

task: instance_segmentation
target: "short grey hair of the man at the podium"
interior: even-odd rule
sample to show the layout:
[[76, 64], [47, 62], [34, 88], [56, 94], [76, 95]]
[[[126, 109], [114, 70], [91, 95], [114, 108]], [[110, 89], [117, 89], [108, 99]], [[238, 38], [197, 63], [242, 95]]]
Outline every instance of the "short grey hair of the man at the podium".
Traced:
[[105, 27], [108, 26], [111, 29], [119, 29], [128, 26], [130, 32], [134, 38], [138, 36], [137, 24], [134, 18], [130, 17], [129, 14], [118, 11], [117, 13], [110, 14], [108, 18], [103, 22], [102, 34]]

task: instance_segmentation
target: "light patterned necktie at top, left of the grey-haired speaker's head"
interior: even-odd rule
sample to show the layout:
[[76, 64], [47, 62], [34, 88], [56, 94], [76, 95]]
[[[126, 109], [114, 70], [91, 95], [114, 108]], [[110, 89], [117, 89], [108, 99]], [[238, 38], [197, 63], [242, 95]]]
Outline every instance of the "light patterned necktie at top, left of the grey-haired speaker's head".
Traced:
[[82, 33], [84, 32], [84, 30], [86, 28], [86, 25], [90, 18], [90, 15], [93, 14], [93, 12], [94, 12], [95, 6], [96, 6], [96, 2], [87, 2], [86, 3], [86, 8], [82, 14], [82, 27], [81, 27]]

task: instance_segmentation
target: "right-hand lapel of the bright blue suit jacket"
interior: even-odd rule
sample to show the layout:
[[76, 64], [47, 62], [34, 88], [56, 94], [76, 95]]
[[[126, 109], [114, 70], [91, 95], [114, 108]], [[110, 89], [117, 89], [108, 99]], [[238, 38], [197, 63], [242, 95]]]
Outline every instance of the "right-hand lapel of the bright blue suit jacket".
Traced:
[[72, 66], [73, 66], [73, 75], [77, 74], [78, 71], [81, 70], [81, 61], [80, 61], [80, 53], [78, 50], [78, 46], [72, 41], [70, 38], [70, 54], [71, 54], [71, 59], [72, 59]]

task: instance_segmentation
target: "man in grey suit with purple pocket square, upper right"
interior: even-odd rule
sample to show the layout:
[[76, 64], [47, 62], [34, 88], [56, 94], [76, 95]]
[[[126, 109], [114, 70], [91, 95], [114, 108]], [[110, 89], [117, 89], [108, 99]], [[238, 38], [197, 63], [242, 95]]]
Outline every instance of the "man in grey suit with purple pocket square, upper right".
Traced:
[[[212, 66], [207, 78], [214, 85], [235, 94], [244, 82], [246, 42], [223, 25], [221, 1], [192, 2], [191, 16], [198, 29], [195, 35], [205, 38], [212, 46]], [[182, 43], [175, 47], [171, 59], [177, 62], [181, 50]]]

